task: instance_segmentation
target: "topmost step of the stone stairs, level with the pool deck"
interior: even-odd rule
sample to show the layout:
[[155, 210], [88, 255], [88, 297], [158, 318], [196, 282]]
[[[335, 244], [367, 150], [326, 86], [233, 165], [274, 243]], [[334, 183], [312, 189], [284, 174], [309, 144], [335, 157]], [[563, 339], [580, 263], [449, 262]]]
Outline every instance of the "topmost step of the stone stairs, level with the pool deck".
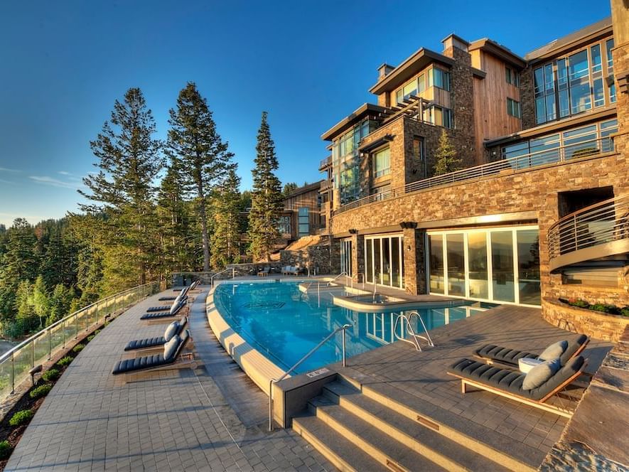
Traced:
[[514, 447], [513, 439], [489, 428], [484, 428], [483, 434], [478, 434], [478, 424], [471, 424], [468, 419], [453, 415], [413, 395], [399, 397], [399, 392], [397, 387], [386, 383], [380, 383], [377, 387], [362, 386], [362, 394], [366, 397], [412, 421], [439, 427], [439, 433], [443, 436], [502, 466], [518, 471], [535, 471], [535, 464], [544, 460], [545, 454], [539, 449], [522, 443]]

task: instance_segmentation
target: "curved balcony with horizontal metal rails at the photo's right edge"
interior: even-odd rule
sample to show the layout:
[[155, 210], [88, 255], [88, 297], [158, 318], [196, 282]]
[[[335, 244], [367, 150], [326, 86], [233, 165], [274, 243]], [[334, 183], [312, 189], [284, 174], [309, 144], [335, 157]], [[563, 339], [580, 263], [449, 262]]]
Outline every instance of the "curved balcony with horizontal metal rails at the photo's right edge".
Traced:
[[551, 272], [571, 264], [629, 254], [629, 193], [566, 215], [548, 231]]

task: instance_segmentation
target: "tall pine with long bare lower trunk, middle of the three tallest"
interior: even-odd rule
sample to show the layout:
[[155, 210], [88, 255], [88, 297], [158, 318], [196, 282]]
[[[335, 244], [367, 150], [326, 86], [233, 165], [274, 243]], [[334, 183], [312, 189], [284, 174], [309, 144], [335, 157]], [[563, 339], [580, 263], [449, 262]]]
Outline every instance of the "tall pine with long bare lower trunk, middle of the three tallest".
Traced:
[[168, 130], [168, 154], [178, 161], [183, 191], [193, 196], [201, 226], [203, 270], [210, 270], [210, 229], [208, 200], [216, 186], [227, 178], [233, 154], [227, 151], [216, 130], [208, 103], [194, 82], [188, 82], [171, 109]]

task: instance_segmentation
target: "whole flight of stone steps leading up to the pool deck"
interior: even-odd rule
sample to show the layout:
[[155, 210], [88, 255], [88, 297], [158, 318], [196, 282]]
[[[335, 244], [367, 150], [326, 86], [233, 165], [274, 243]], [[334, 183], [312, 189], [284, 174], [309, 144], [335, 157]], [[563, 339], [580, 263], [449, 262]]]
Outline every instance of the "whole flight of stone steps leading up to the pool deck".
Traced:
[[[482, 438], [348, 377], [323, 387], [293, 429], [341, 471], [534, 471]], [[508, 448], [504, 448], [508, 449]]]

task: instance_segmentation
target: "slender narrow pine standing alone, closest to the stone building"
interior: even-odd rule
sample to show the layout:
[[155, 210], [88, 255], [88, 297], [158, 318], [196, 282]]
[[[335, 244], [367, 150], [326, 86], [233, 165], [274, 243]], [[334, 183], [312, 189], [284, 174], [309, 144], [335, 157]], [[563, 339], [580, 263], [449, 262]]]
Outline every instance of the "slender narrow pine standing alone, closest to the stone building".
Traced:
[[277, 225], [282, 210], [282, 195], [281, 183], [274, 173], [279, 165], [275, 156], [275, 144], [267, 123], [267, 112], [262, 112], [256, 151], [255, 167], [252, 169], [249, 252], [254, 260], [269, 261], [273, 246], [280, 236]]

